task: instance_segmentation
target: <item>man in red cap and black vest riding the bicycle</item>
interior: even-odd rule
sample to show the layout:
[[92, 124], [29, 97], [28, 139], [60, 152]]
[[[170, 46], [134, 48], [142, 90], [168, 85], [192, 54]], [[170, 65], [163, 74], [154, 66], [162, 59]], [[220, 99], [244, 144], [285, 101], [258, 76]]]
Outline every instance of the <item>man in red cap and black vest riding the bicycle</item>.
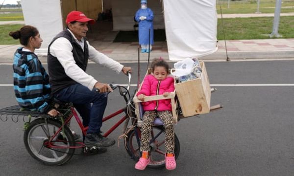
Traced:
[[100, 128], [107, 104], [107, 92], [112, 91], [112, 88], [85, 72], [88, 59], [117, 73], [122, 71], [127, 74], [131, 72], [131, 67], [121, 65], [89, 44], [85, 38], [88, 23], [93, 24], [95, 21], [82, 12], [72, 11], [68, 14], [67, 28], [57, 34], [48, 47], [49, 83], [54, 97], [72, 102], [83, 119], [83, 125], [89, 127], [85, 145], [109, 147], [115, 140], [103, 137]]

